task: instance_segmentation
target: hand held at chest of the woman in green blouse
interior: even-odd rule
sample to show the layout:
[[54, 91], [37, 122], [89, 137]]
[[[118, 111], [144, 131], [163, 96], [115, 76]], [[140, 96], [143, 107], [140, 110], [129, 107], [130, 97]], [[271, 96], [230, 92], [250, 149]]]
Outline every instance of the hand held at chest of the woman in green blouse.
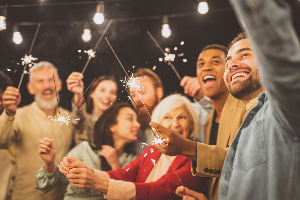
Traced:
[[102, 145], [101, 146], [100, 155], [103, 156], [108, 165], [112, 168], [112, 170], [116, 170], [120, 168], [120, 163], [117, 155], [117, 151], [110, 145]]

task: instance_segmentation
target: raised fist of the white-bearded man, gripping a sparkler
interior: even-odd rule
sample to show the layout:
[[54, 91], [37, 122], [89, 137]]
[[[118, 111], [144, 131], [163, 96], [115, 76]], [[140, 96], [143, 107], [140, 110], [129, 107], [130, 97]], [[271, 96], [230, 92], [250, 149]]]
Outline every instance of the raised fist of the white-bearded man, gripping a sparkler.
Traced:
[[2, 103], [4, 108], [6, 108], [7, 115], [14, 115], [16, 109], [21, 102], [21, 94], [18, 88], [8, 86], [2, 95]]

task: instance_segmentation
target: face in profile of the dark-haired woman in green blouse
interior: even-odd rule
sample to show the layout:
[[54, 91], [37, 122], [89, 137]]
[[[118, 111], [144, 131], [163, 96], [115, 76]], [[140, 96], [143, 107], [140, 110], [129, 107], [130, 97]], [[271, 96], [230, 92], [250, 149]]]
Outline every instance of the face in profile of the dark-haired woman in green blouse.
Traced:
[[117, 124], [110, 127], [113, 139], [122, 139], [125, 142], [137, 141], [140, 124], [137, 122], [137, 113], [128, 107], [121, 108], [117, 116]]

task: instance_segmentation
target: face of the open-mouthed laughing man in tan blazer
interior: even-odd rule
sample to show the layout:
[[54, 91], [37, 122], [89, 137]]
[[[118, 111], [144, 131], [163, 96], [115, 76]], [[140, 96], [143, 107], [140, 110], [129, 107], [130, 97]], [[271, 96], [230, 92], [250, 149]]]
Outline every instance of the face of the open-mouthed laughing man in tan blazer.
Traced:
[[216, 98], [228, 91], [223, 80], [225, 54], [219, 49], [207, 49], [197, 60], [197, 78], [207, 97]]

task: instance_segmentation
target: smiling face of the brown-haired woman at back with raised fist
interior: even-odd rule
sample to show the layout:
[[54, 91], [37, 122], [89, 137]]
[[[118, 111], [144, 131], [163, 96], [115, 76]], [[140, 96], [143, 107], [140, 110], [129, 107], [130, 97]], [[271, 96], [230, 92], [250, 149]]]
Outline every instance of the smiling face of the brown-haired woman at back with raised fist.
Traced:
[[90, 94], [94, 107], [100, 110], [107, 110], [116, 101], [118, 86], [112, 80], [101, 81], [95, 90]]

